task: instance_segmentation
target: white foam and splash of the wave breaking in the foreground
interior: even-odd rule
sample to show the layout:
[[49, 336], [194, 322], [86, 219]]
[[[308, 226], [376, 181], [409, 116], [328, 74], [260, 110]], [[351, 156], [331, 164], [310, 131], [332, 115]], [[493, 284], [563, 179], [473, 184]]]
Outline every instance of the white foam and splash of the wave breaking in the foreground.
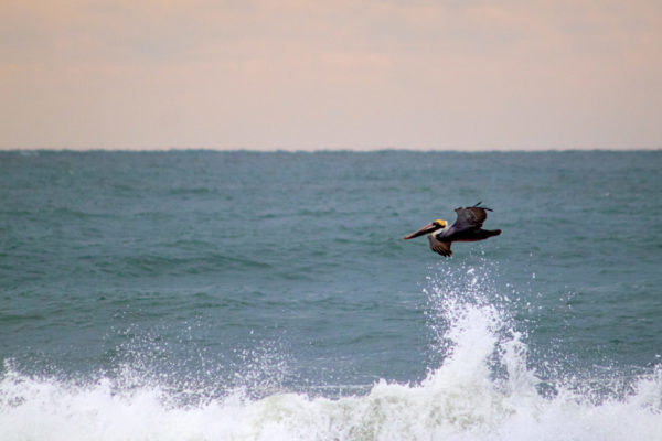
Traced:
[[446, 357], [420, 384], [381, 380], [340, 399], [237, 390], [182, 405], [158, 386], [82, 386], [9, 368], [0, 440], [662, 440], [660, 370], [620, 396], [596, 399], [563, 381], [541, 394], [521, 334], [481, 291], [489, 283], [473, 272], [462, 280], [427, 290]]

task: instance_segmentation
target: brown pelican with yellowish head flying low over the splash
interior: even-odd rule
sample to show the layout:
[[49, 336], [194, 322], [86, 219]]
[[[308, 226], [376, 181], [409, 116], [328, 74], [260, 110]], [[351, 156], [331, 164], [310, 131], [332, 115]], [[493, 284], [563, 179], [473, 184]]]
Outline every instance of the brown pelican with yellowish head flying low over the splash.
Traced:
[[481, 202], [472, 207], [456, 208], [458, 218], [451, 226], [448, 226], [448, 223], [444, 219], [437, 219], [418, 232], [406, 236], [405, 240], [429, 233], [428, 240], [430, 241], [431, 250], [441, 256], [450, 256], [452, 254], [450, 245], [453, 241], [477, 241], [500, 235], [501, 229], [481, 228], [483, 222], [488, 218], [488, 212], [492, 209], [481, 207], [480, 204]]

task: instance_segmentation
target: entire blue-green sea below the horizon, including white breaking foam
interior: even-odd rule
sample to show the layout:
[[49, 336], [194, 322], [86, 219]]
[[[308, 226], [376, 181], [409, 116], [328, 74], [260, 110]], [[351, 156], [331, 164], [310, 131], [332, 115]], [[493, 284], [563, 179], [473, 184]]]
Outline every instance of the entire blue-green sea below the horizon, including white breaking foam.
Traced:
[[0, 440], [662, 440], [661, 287], [662, 151], [0, 152]]

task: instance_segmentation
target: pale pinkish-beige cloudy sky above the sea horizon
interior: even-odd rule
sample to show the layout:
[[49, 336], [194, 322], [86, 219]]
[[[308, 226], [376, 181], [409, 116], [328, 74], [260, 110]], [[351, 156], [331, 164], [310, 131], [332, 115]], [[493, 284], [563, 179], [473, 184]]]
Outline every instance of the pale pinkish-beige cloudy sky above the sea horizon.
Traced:
[[0, 149], [660, 149], [660, 0], [0, 0]]

